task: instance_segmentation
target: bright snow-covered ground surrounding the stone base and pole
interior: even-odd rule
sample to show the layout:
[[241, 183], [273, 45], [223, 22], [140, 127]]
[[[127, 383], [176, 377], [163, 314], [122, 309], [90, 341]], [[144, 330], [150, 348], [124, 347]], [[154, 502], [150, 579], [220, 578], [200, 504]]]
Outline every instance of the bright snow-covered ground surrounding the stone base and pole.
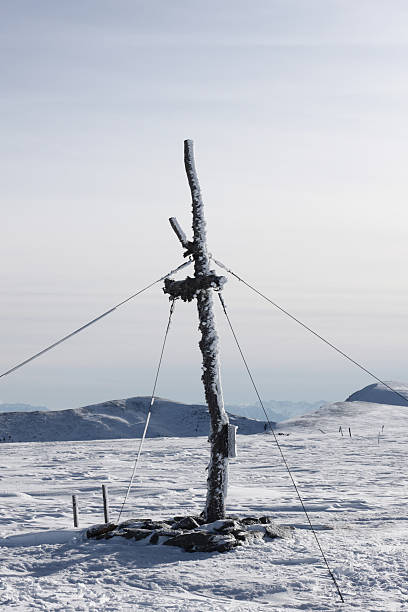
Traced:
[[[229, 512], [270, 514], [297, 529], [292, 539], [224, 554], [84, 539], [86, 526], [103, 521], [102, 483], [116, 518], [137, 440], [2, 444], [0, 602], [10, 610], [47, 611], [407, 610], [408, 410], [339, 403], [293, 419], [282, 431], [290, 434], [279, 441], [344, 606], [273, 437], [264, 433], [238, 436]], [[125, 518], [199, 512], [207, 459], [205, 437], [146, 440]], [[80, 508], [76, 530], [72, 493]]]

